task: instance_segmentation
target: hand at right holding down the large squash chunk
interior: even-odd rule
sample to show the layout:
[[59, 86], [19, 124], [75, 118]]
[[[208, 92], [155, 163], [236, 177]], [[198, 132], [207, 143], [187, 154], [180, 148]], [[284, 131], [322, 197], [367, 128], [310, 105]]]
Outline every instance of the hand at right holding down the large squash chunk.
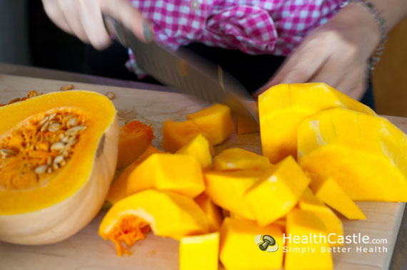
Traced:
[[364, 6], [349, 4], [312, 31], [255, 95], [279, 83], [323, 82], [360, 100], [366, 90], [368, 58], [380, 34]]

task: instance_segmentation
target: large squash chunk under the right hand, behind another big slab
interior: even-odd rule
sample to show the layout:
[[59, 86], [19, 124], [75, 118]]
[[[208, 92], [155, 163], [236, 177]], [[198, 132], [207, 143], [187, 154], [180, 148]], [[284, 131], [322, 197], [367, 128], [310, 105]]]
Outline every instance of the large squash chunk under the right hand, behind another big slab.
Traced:
[[258, 96], [261, 145], [270, 162], [296, 157], [301, 120], [328, 108], [343, 107], [375, 115], [371, 108], [325, 83], [293, 83], [271, 87]]

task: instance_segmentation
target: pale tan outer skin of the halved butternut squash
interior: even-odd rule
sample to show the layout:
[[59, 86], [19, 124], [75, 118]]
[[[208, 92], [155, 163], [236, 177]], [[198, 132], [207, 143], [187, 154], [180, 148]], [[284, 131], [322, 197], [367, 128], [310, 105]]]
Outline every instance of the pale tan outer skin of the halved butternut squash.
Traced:
[[[90, 91], [82, 92], [97, 94]], [[100, 95], [100, 94], [97, 94]], [[111, 110], [114, 105], [111, 104]], [[114, 118], [99, 138], [85, 184], [70, 197], [43, 209], [22, 214], [0, 214], [0, 241], [13, 244], [54, 244], [79, 232], [101, 209], [117, 162], [119, 121]], [[27, 228], [26, 224], [29, 224]]]

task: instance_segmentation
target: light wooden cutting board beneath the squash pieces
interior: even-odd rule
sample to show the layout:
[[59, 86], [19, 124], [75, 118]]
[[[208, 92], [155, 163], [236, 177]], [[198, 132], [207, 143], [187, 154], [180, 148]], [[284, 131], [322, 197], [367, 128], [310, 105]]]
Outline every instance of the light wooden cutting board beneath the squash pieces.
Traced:
[[[86, 83], [51, 81], [37, 78], [0, 75], [0, 103], [16, 97], [23, 97], [29, 90], [49, 93], [61, 86], [74, 84], [75, 89], [94, 90], [116, 95], [113, 100], [120, 120], [140, 120], [154, 128], [154, 145], [161, 147], [161, 125], [165, 120], [184, 120], [185, 116], [204, 108], [200, 103], [177, 93], [154, 90], [119, 88]], [[103, 113], [103, 112], [101, 112]], [[407, 118], [389, 119], [407, 132]], [[222, 145], [242, 147], [261, 153], [258, 133], [232, 135]], [[350, 252], [334, 253], [335, 269], [387, 269], [403, 214], [403, 203], [358, 202], [366, 221], [343, 219], [346, 235], [367, 235], [371, 239], [386, 239], [383, 244], [346, 244]], [[144, 241], [136, 243], [131, 256], [117, 257], [114, 244], [104, 242], [97, 230], [106, 212], [102, 210], [91, 224], [73, 237], [58, 244], [44, 246], [20, 246], [0, 243], [0, 269], [178, 269], [178, 242], [149, 234]], [[27, 224], [29, 226], [29, 224]], [[386, 252], [358, 252], [357, 246], [369, 248], [386, 247]]]

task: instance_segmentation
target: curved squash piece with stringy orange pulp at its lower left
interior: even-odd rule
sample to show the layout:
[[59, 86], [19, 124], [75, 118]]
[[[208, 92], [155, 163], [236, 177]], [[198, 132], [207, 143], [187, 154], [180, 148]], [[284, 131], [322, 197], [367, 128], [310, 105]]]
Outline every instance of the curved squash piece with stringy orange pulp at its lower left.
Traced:
[[206, 214], [194, 199], [174, 192], [146, 189], [114, 204], [99, 226], [99, 235], [116, 244], [118, 255], [149, 232], [161, 237], [181, 239], [186, 235], [206, 234]]

